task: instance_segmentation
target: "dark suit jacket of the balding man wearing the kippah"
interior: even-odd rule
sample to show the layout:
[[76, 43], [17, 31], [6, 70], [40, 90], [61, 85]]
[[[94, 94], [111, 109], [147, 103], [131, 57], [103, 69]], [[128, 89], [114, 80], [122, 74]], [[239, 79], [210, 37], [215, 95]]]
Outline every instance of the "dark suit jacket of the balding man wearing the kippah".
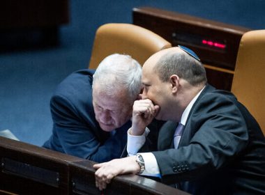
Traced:
[[[253, 100], [255, 101], [255, 100]], [[160, 130], [162, 182], [191, 194], [265, 194], [265, 141], [256, 120], [232, 93], [207, 85], [193, 105], [179, 149], [177, 124]]]

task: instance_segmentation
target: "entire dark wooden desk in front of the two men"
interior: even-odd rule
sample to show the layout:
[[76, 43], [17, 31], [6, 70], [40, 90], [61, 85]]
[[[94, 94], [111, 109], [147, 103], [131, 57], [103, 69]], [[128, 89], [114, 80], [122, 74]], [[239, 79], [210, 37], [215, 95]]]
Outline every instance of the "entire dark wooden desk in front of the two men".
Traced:
[[[102, 194], [86, 159], [0, 137], [0, 194]], [[187, 194], [141, 176], [117, 176], [103, 194]]]

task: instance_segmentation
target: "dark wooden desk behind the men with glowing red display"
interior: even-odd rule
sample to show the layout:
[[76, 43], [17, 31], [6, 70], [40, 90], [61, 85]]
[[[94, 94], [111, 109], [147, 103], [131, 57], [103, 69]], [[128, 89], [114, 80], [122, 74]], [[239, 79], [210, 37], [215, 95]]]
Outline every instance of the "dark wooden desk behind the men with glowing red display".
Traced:
[[133, 24], [192, 49], [206, 68], [210, 84], [231, 90], [241, 36], [250, 29], [157, 8], [134, 8]]

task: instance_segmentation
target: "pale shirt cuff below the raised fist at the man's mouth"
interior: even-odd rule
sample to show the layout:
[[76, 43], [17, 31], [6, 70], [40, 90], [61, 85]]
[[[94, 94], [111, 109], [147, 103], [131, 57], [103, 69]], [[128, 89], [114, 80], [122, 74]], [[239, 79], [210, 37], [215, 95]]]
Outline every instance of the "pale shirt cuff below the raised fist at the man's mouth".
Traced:
[[146, 127], [142, 135], [135, 136], [130, 134], [131, 129], [132, 128], [130, 128], [127, 132], [127, 152], [129, 156], [136, 155], [138, 150], [144, 145], [146, 137], [150, 132], [149, 128]]

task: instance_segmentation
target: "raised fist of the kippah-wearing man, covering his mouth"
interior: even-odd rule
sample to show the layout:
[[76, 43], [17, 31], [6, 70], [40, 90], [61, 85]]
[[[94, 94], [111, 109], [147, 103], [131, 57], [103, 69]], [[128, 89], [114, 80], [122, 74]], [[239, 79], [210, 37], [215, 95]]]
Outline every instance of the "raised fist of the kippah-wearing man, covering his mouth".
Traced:
[[159, 106], [154, 105], [149, 99], [136, 100], [133, 104], [131, 134], [143, 134], [145, 127], [149, 125], [156, 114], [158, 114], [158, 110]]

